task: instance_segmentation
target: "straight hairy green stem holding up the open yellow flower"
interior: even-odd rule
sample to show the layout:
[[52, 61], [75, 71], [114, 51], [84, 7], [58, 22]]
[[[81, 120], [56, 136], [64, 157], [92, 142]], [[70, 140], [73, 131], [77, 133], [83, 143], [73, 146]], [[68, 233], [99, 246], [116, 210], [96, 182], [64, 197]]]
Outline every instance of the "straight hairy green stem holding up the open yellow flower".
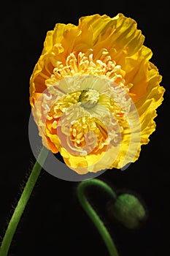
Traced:
[[26, 204], [28, 203], [29, 197], [31, 196], [31, 192], [34, 189], [37, 178], [39, 177], [39, 174], [42, 170], [42, 166], [39, 165], [39, 162], [41, 162], [42, 165], [44, 164], [48, 152], [49, 151], [47, 150], [47, 148], [43, 147], [39, 153], [39, 157], [37, 158], [33, 170], [31, 171], [31, 174], [28, 178], [28, 181], [26, 182], [26, 187], [23, 189], [20, 200], [18, 201], [15, 211], [12, 214], [12, 218], [9, 221], [9, 225], [7, 226], [7, 230], [0, 247], [0, 256], [7, 256], [9, 246], [15, 234], [15, 230], [18, 227], [20, 218], [23, 214], [24, 209], [26, 208]]

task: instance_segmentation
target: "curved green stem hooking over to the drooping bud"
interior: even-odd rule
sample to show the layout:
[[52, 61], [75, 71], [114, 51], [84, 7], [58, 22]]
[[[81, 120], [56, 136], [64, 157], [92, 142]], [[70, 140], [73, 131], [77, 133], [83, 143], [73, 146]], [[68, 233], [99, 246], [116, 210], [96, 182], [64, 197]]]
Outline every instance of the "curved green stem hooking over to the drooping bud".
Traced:
[[109, 187], [106, 183], [104, 183], [103, 181], [100, 181], [98, 179], [82, 181], [79, 184], [79, 186], [77, 187], [77, 195], [78, 195], [78, 198], [82, 205], [82, 208], [84, 208], [85, 212], [88, 214], [88, 216], [90, 217], [90, 219], [92, 220], [94, 225], [96, 225], [96, 228], [98, 229], [98, 232], [100, 233], [101, 238], [103, 238], [104, 243], [107, 246], [109, 255], [110, 256], [118, 256], [116, 246], [115, 246], [114, 242], [112, 241], [112, 238], [109, 235], [107, 228], [104, 226], [104, 223], [98, 217], [98, 214], [96, 214], [96, 211], [93, 210], [92, 206], [90, 206], [90, 203], [88, 203], [88, 200], [85, 197], [85, 189], [87, 189], [87, 187], [89, 187], [89, 186], [101, 187], [101, 189], [104, 189], [114, 200], [116, 199], [116, 194], [115, 194], [115, 192], [113, 192], [111, 187]]

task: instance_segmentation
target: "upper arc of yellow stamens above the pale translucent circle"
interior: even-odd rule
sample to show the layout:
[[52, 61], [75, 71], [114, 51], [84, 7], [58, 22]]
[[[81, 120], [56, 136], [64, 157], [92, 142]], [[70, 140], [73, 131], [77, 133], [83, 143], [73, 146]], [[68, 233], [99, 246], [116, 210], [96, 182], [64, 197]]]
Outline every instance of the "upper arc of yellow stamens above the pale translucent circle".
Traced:
[[[93, 50], [88, 49], [86, 53], [73, 52], [66, 58], [66, 65], [61, 61], [56, 61], [53, 75], [46, 80], [46, 84], [74, 75], [98, 75], [108, 78], [121, 86], [125, 86], [123, 70], [117, 65], [107, 49], [101, 49], [96, 58], [93, 57]], [[119, 80], [117, 80], [119, 79]], [[127, 89], [128, 86], [125, 86]]]

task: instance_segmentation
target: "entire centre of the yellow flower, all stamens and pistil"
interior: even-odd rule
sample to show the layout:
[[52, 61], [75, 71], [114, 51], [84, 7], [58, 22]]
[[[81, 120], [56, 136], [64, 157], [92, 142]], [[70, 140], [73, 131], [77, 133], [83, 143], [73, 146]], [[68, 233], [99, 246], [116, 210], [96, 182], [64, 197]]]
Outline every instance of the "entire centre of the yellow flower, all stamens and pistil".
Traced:
[[53, 75], [45, 80], [50, 99], [45, 96], [43, 108], [46, 134], [62, 155], [100, 154], [119, 144], [124, 128], [128, 132], [131, 108], [127, 93], [132, 84], [125, 83], [124, 75], [107, 49], [97, 55], [91, 49], [77, 51], [55, 61]]

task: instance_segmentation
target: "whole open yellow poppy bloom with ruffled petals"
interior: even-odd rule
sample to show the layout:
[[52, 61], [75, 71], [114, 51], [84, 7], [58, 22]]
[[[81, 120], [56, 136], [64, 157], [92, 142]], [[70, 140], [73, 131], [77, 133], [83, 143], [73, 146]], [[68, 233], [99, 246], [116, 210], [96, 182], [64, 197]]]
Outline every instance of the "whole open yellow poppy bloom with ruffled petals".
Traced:
[[77, 173], [121, 168], [155, 130], [164, 89], [136, 22], [118, 14], [55, 25], [30, 80], [44, 146]]

